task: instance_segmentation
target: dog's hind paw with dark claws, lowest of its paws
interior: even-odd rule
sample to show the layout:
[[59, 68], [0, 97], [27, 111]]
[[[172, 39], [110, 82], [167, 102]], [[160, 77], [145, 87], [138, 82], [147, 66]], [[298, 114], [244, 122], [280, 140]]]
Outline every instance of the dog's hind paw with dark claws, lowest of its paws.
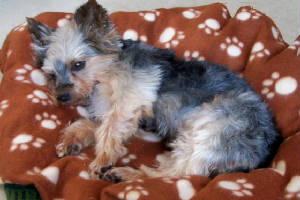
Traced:
[[112, 183], [119, 183], [121, 181], [129, 181], [139, 178], [145, 178], [144, 173], [131, 167], [114, 167], [107, 170], [102, 175], [103, 180]]

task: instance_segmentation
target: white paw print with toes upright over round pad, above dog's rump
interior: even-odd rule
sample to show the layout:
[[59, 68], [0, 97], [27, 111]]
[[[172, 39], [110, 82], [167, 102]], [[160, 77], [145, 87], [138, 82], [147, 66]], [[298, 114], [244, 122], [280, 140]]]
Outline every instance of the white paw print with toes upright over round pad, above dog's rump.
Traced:
[[243, 42], [240, 42], [237, 37], [227, 37], [225, 42], [221, 43], [220, 48], [226, 50], [227, 54], [231, 57], [238, 57], [242, 53], [244, 47]]

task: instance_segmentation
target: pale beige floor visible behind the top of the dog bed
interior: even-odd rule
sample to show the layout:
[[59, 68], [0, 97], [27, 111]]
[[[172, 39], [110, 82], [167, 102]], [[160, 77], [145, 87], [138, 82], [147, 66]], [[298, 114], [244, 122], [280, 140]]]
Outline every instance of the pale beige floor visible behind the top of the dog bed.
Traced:
[[[241, 6], [250, 5], [268, 15], [283, 35], [292, 43], [300, 30], [299, 0], [97, 0], [109, 12], [137, 11], [155, 8], [188, 7], [221, 2], [227, 6], [231, 16]], [[73, 12], [85, 0], [0, 0], [0, 47], [9, 31], [23, 23], [25, 17], [34, 17], [40, 12]], [[0, 74], [1, 80], [1, 74]], [[0, 177], [1, 180], [1, 177]], [[1, 184], [1, 181], [0, 181]], [[0, 200], [5, 200], [3, 187], [0, 186]]]

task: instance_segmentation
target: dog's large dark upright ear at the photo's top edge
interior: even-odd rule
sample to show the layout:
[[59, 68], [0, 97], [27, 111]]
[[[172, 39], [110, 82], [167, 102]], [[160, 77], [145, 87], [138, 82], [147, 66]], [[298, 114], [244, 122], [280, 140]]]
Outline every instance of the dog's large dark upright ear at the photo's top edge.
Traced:
[[96, 0], [89, 0], [79, 7], [74, 20], [87, 42], [99, 52], [115, 52], [120, 49], [120, 39], [109, 19], [107, 11]]

